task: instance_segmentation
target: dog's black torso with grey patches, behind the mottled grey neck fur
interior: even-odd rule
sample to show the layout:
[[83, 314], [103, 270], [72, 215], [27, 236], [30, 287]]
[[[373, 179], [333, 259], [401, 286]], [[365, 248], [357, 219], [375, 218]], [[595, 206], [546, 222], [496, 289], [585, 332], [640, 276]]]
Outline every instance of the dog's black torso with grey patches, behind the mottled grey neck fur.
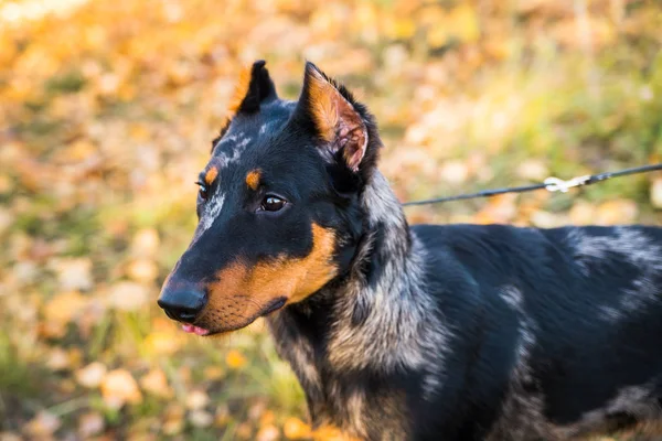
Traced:
[[455, 415], [430, 433], [567, 439], [661, 416], [662, 229], [413, 230], [451, 330], [437, 397]]

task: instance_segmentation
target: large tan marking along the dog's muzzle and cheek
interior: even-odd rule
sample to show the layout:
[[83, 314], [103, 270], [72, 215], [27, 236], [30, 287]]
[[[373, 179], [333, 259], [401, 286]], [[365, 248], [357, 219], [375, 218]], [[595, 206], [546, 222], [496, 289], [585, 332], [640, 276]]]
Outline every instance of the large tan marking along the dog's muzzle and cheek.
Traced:
[[312, 250], [303, 258], [276, 258], [248, 267], [237, 261], [216, 273], [207, 286], [209, 303], [201, 323], [209, 327], [243, 327], [270, 301], [299, 302], [337, 273], [331, 262], [334, 233], [312, 224]]

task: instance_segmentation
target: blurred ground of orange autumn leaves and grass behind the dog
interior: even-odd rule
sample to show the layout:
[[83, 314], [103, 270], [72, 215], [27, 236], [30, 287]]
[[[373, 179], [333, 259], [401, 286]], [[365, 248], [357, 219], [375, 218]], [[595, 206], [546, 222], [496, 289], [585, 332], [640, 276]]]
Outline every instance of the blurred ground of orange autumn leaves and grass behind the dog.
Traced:
[[[403, 201], [662, 160], [650, 0], [0, 0], [0, 440], [307, 439], [263, 323], [156, 308], [242, 66], [303, 62], [380, 121]], [[407, 208], [413, 223], [662, 220], [662, 175]], [[623, 439], [634, 439], [631, 433]]]

